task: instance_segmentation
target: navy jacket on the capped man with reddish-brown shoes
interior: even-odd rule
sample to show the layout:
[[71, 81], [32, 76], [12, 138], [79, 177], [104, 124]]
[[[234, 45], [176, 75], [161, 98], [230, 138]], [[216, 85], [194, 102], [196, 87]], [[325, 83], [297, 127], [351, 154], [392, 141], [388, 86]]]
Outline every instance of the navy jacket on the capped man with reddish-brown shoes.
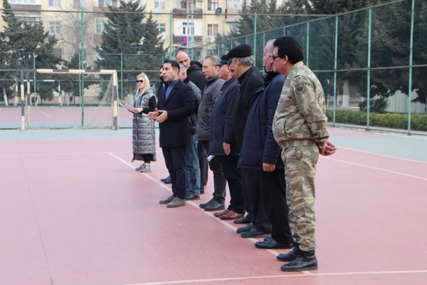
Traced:
[[238, 155], [236, 135], [233, 129], [233, 110], [238, 96], [238, 83], [231, 78], [221, 88], [221, 95], [212, 113], [209, 155], [226, 155], [223, 142], [231, 145], [231, 154]]

